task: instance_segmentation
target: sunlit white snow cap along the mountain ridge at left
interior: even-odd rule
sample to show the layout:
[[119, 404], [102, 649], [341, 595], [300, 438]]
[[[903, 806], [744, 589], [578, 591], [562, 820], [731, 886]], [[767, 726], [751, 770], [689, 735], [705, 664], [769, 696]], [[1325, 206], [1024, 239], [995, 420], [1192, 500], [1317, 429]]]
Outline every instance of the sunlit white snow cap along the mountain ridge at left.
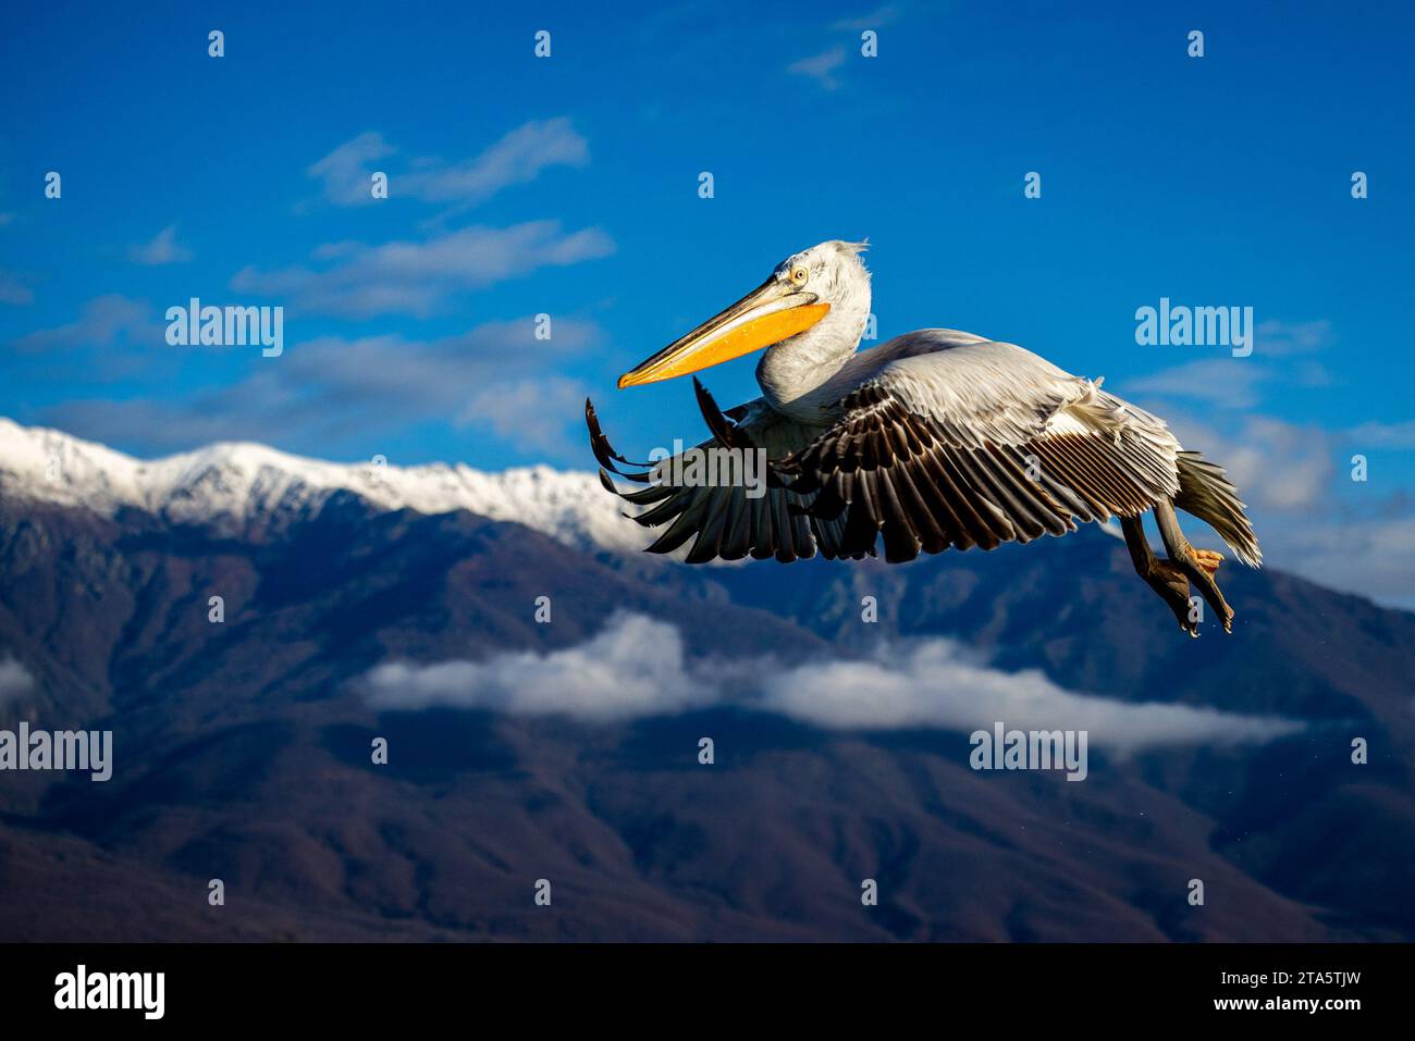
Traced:
[[0, 417], [0, 495], [85, 506], [112, 516], [137, 508], [177, 523], [242, 532], [317, 509], [350, 491], [382, 509], [466, 509], [512, 520], [576, 549], [638, 550], [644, 532], [590, 472], [457, 464], [324, 463], [262, 444], [221, 443], [139, 460], [58, 430]]

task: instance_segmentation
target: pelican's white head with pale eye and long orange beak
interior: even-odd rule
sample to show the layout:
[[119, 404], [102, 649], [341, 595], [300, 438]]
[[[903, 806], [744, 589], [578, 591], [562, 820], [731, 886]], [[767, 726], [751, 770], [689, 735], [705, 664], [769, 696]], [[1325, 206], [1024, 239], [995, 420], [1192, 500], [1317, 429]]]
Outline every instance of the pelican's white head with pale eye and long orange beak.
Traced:
[[780, 344], [825, 322], [832, 310], [835, 320], [845, 320], [843, 335], [853, 327], [853, 352], [869, 315], [863, 249], [863, 242], [832, 240], [788, 256], [751, 293], [620, 376], [620, 389], [686, 376]]

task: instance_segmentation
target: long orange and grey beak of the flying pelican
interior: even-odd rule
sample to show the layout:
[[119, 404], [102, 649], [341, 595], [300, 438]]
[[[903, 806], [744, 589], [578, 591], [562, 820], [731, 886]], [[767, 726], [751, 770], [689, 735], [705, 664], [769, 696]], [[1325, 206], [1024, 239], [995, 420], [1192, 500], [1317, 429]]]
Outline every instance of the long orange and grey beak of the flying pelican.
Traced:
[[686, 376], [805, 332], [831, 310], [775, 276], [618, 379], [620, 390]]

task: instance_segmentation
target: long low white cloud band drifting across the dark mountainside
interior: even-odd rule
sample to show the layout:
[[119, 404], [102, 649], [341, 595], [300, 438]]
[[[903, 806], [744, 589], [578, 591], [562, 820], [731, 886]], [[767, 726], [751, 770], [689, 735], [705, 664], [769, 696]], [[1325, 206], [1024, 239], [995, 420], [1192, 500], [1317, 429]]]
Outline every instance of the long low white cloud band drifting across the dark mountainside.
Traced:
[[941, 638], [911, 641], [866, 661], [794, 668], [771, 659], [691, 662], [676, 628], [637, 614], [618, 614], [599, 635], [563, 651], [382, 665], [362, 686], [379, 709], [453, 706], [591, 721], [729, 702], [836, 730], [971, 733], [1002, 720], [1026, 730], [1085, 730], [1097, 747], [1118, 754], [1264, 743], [1303, 728], [1296, 720], [1073, 693], [1036, 670], [1009, 673], [971, 662]]

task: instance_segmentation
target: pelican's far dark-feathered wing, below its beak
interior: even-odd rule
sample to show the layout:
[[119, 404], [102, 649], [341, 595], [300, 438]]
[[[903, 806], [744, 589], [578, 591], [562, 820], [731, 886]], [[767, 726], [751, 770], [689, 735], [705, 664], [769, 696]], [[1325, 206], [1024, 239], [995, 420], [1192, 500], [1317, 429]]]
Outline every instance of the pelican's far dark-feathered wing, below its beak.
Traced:
[[[843, 519], [814, 518], [807, 513], [815, 501], [814, 492], [791, 491], [771, 474], [771, 464], [804, 448], [819, 433], [775, 412], [760, 397], [722, 413], [698, 380], [698, 403], [713, 437], [679, 457], [655, 464], [628, 463], [614, 451], [594, 414], [594, 406], [584, 403], [584, 420], [590, 429], [590, 447], [600, 461], [600, 482], [635, 506], [641, 513], [630, 515], [645, 528], [666, 529], [648, 546], [649, 553], [672, 553], [693, 540], [685, 560], [691, 564], [713, 559], [740, 560], [746, 556], [764, 560], [775, 557], [782, 563], [814, 557], [816, 549], [826, 557], [839, 556]], [[760, 479], [754, 488], [746, 482], [702, 484], [686, 481], [692, 471], [686, 465], [689, 453], [708, 450], [739, 450], [760, 453], [751, 464]], [[645, 472], [625, 472], [620, 465], [651, 467]], [[623, 491], [610, 478], [611, 471], [623, 478], [645, 485], [638, 491]], [[760, 492], [760, 494], [758, 494]], [[855, 556], [873, 553], [860, 550]]]

